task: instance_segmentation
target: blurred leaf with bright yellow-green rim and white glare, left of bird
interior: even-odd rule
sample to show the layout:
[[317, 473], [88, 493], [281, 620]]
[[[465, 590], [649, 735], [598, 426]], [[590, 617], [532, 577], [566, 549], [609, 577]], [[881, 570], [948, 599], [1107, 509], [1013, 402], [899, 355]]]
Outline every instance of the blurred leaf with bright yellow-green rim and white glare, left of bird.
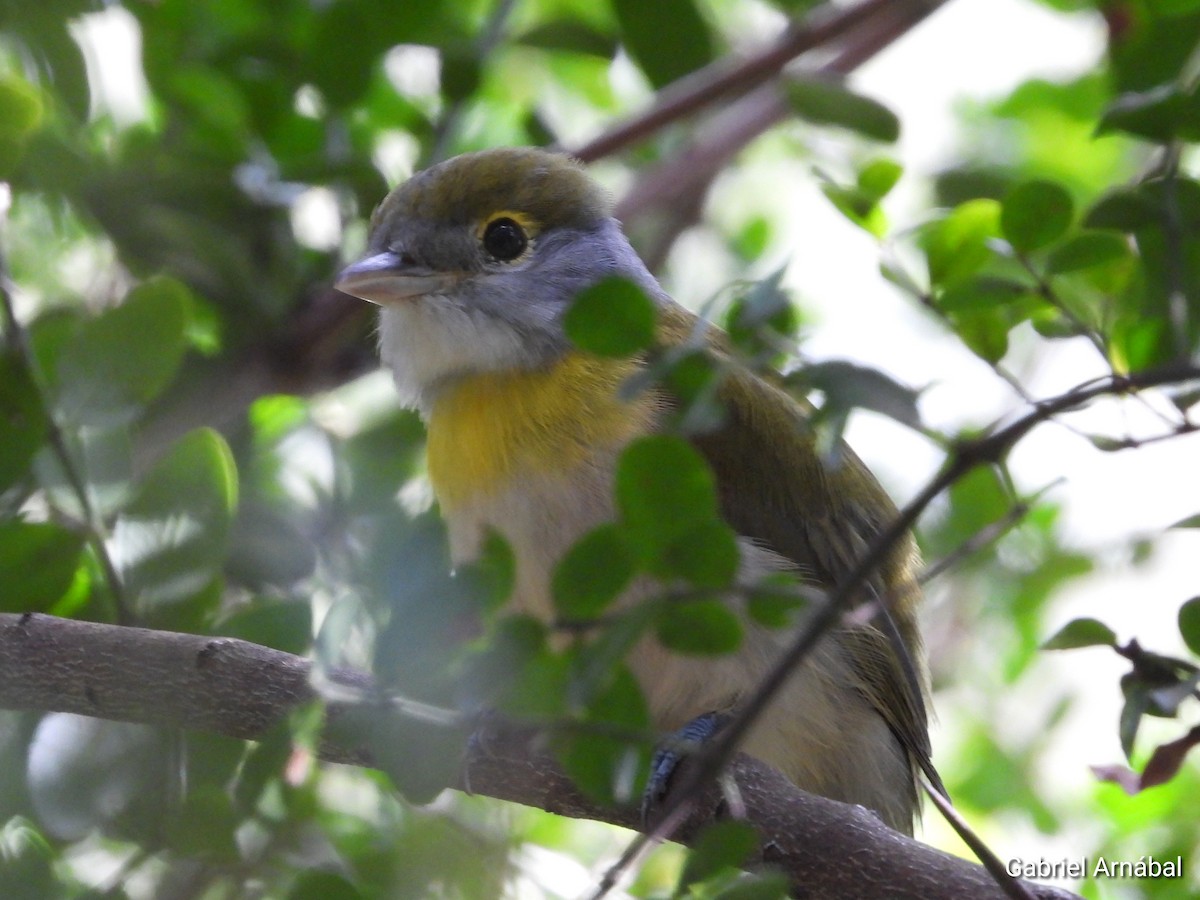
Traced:
[[220, 575], [238, 503], [238, 470], [224, 439], [199, 428], [150, 469], [113, 529], [112, 553], [139, 607], [204, 594]]

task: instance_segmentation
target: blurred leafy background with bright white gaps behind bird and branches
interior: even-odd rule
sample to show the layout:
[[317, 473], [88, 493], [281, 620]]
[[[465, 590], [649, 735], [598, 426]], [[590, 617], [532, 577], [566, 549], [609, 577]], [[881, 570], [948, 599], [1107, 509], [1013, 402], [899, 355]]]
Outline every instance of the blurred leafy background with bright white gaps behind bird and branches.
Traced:
[[[661, 209], [626, 208], [680, 300], [742, 298], [730, 323], [749, 316], [751, 349], [762, 323], [798, 329], [797, 390], [823, 403], [830, 434], [848, 421], [901, 498], [956, 438], [1021, 408], [1006, 379], [1046, 396], [1195, 360], [1200, 340], [1200, 2], [1014, 0], [1038, 28], [1085, 36], [1075, 67], [1001, 79], [1003, 92], [960, 102], [950, 128], [930, 125], [930, 95], [946, 91], [926, 94], [920, 77], [972, 84], [984, 65], [978, 24], [935, 31], [965, 5], [892, 50], [920, 48], [904, 62], [911, 82], [886, 60], [857, 95], [797, 80], [796, 115], [724, 168], [678, 240], [661, 239]], [[448, 580], [424, 511], [420, 425], [395, 409], [370, 317], [331, 275], [415, 166], [580, 146], [811, 6], [0, 4], [16, 314], [0, 356], [0, 608], [245, 637], [370, 664], [406, 694], [448, 701], [462, 685], [434, 664], [460, 614], [503, 587], [503, 552]], [[1024, 53], [1014, 42], [998, 61], [1025, 71]], [[868, 100], [883, 96], [899, 119]], [[595, 172], [620, 196], [697, 134], [661, 128]], [[794, 306], [780, 319], [772, 274], [786, 260]], [[758, 281], [739, 287], [748, 275]], [[1200, 887], [1195, 763], [1132, 797], [1087, 770], [1118, 761], [1122, 742], [1139, 768], [1186, 730], [1176, 707], [1154, 706], [1136, 677], [1122, 698], [1129, 665], [1103, 647], [1039, 649], [1091, 616], [1194, 660], [1195, 438], [1142, 443], [1186, 432], [1194, 401], [1180, 389], [1043, 427], [923, 521], [926, 558], [955, 563], [930, 586], [926, 631], [936, 758], [964, 812], [1006, 858], [1186, 859], [1183, 880], [1086, 883], [1088, 896]], [[998, 540], [971, 544], [992, 526]], [[703, 625], [709, 641], [684, 649], [728, 642], [728, 623], [696, 619], [676, 634]], [[523, 712], [560, 714], [566, 670], [545, 635], [493, 625], [468, 690], [516, 670]], [[1084, 631], [1062, 643], [1109, 641]], [[1195, 715], [1194, 700], [1176, 706]], [[641, 721], [619, 678], [587, 712]], [[457, 794], [414, 806], [379, 773], [288, 767], [283, 738], [246, 749], [5, 713], [0, 754], [6, 896], [575, 895], [623, 841]], [[583, 757], [574, 770], [605, 790], [606, 760]], [[420, 796], [437, 775], [402, 786]], [[925, 836], [956, 847], [932, 815]], [[670, 893], [680, 858], [656, 852], [630, 892]], [[715, 895], [730, 877], [689, 889]]]

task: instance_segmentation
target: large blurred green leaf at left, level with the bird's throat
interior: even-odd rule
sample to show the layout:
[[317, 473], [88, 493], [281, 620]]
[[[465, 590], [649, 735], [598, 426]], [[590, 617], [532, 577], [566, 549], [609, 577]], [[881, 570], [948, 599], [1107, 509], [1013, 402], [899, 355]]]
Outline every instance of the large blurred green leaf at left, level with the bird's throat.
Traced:
[[188, 293], [156, 277], [76, 332], [59, 365], [60, 406], [70, 421], [127, 421], [170, 384], [187, 346]]

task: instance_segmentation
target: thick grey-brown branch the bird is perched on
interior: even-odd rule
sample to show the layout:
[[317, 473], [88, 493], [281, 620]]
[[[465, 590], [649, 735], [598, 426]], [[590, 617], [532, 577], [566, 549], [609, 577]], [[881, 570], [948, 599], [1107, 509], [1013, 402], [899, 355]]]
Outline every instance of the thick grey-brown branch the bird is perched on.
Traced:
[[[41, 614], [0, 614], [0, 708], [65, 712], [254, 739], [318, 698], [308, 660], [245, 641], [151, 631]], [[368, 689], [361, 673], [334, 673]], [[332, 701], [336, 719], [355, 706]], [[572, 818], [638, 827], [635, 809], [599, 806], [581, 794], [530, 739], [496, 725], [464, 750], [463, 781], [475, 793]], [[323, 758], [370, 766], [361, 748], [326, 742]], [[1002, 898], [978, 865], [898, 834], [862, 808], [809, 794], [745, 755], [727, 769], [746, 818], [762, 834], [758, 860], [785, 870], [797, 896]], [[721, 815], [710, 786], [677, 833], [691, 844]], [[1030, 884], [1034, 896], [1070, 898]]]

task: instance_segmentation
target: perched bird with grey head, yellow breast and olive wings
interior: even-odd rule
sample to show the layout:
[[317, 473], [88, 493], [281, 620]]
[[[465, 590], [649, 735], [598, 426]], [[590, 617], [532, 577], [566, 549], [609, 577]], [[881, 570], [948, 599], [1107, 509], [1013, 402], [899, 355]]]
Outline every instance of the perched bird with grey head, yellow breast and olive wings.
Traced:
[[[644, 360], [589, 355], [564, 335], [572, 299], [607, 276], [653, 299], [664, 344], [697, 331], [576, 162], [498, 149], [442, 162], [394, 190], [372, 217], [366, 254], [336, 282], [380, 306], [380, 355], [402, 402], [426, 422], [454, 558], [472, 559], [498, 530], [516, 558], [511, 602], [546, 619], [554, 564], [616, 517], [622, 449], [661, 430], [677, 402], [661, 389], [626, 396], [622, 385]], [[829, 587], [895, 508], [848, 449], [836, 466], [823, 462], [806, 410], [730, 359], [708, 328], [712, 352], [728, 364], [719, 386], [726, 415], [690, 439], [739, 535], [739, 577], [793, 570]], [[827, 635], [743, 748], [802, 788], [868, 806], [902, 832], [912, 829], [917, 772], [929, 757], [923, 676], [913, 677], [924, 672], [916, 565], [906, 539], [864, 590], [886, 599], [899, 638], [871, 624]], [[647, 636], [629, 664], [655, 724], [678, 730], [736, 708], [787, 637], [748, 623], [733, 654], [695, 658]]]

